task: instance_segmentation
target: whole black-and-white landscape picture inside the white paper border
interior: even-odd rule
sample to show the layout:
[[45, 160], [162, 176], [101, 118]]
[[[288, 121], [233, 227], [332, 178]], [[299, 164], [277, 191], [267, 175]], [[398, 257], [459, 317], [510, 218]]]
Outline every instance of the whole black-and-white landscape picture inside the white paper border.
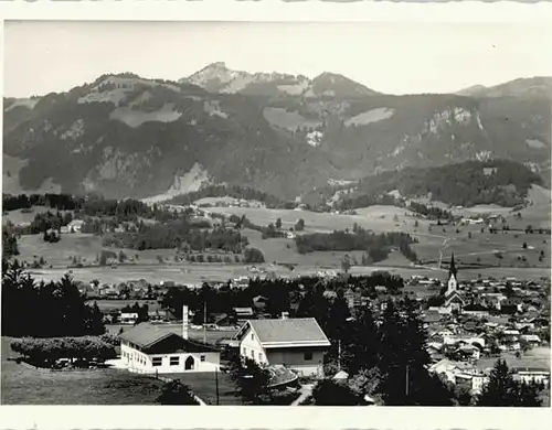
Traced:
[[549, 25], [2, 33], [2, 405], [550, 407]]

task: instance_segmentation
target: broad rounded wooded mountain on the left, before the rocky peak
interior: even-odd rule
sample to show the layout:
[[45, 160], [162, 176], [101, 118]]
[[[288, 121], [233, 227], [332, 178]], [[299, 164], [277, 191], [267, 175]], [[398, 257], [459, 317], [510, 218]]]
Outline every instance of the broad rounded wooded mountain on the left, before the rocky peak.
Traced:
[[325, 181], [311, 169], [321, 154], [270, 127], [254, 101], [136, 77], [45, 96], [4, 141], [4, 154], [28, 162], [23, 190], [51, 180], [64, 192], [147, 197], [192, 169], [287, 197]]

